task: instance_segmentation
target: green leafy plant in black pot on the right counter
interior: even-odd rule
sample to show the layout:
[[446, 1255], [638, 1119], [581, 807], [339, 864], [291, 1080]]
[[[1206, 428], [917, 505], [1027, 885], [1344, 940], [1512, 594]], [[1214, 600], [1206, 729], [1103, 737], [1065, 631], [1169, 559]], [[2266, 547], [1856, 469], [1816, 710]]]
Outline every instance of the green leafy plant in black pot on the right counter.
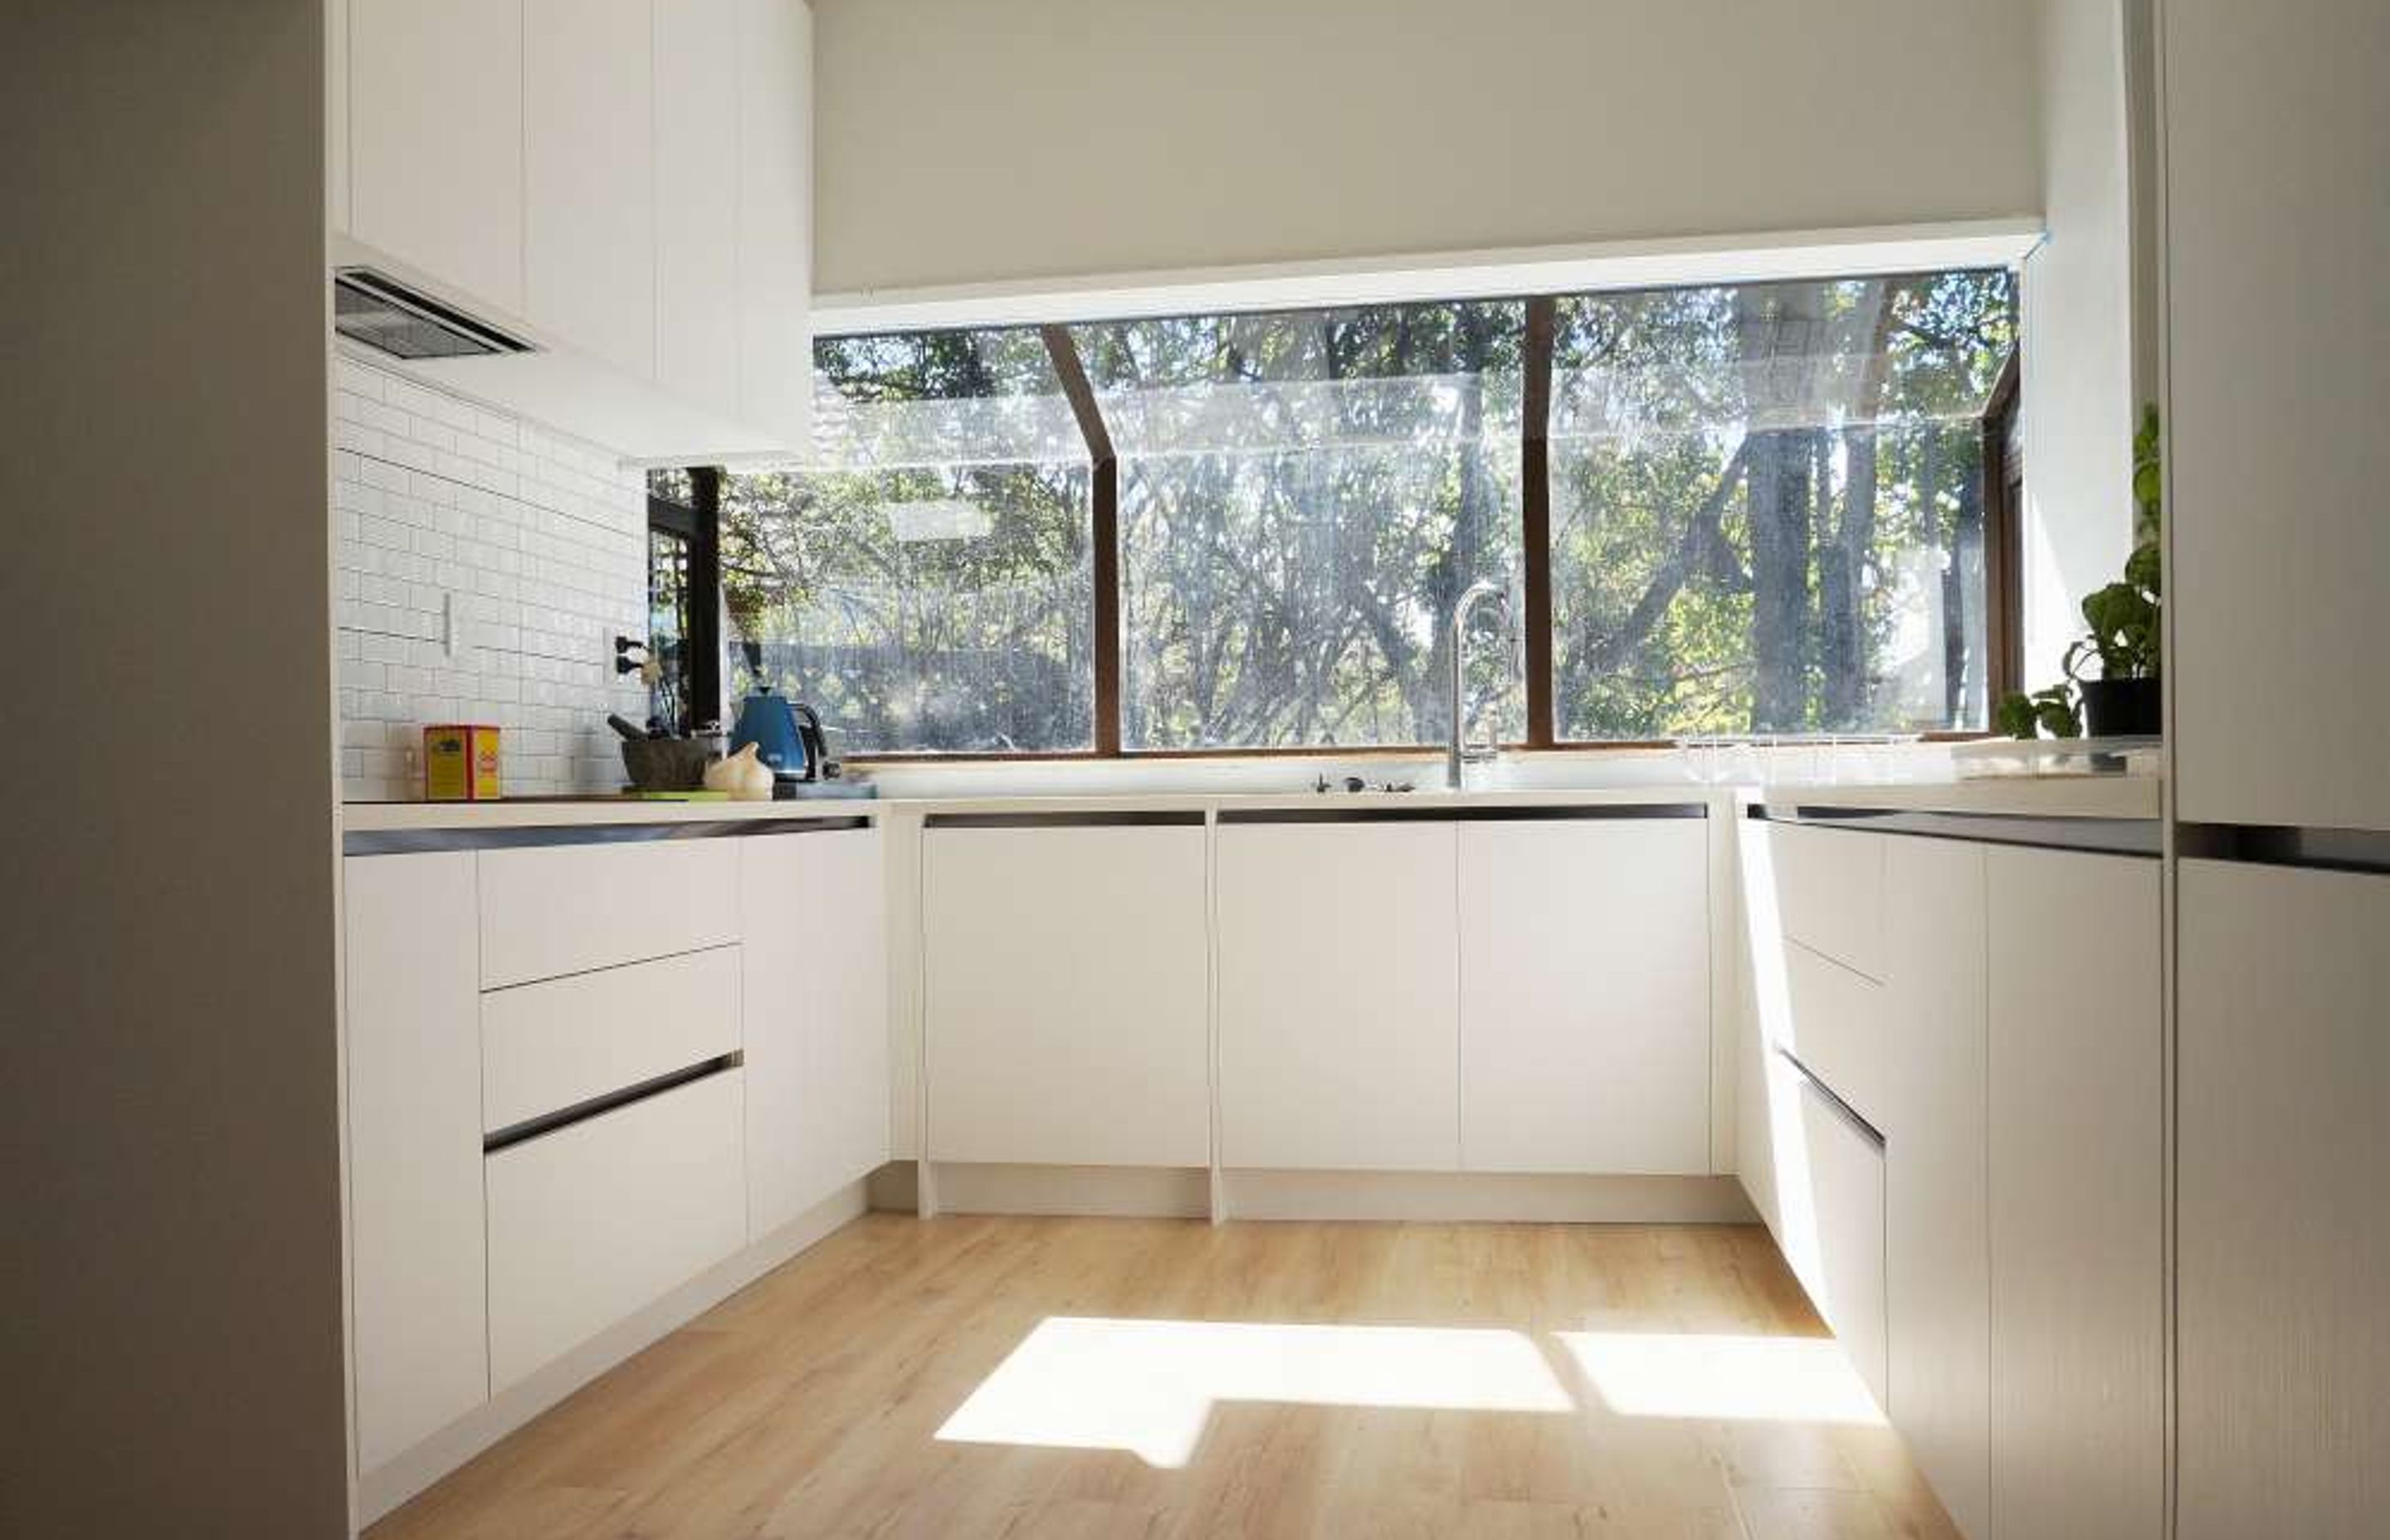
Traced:
[[[2084, 595], [2089, 631], [2065, 655], [2065, 682], [2010, 693], [1998, 705], [2000, 732], [2020, 739], [2048, 732], [2072, 739], [2156, 737], [2163, 727], [2163, 686], [2158, 682], [2158, 615], [2163, 605], [2163, 560], [2158, 555], [2158, 409], [2141, 414], [2132, 435], [2134, 548], [2125, 557], [2125, 576]], [[2082, 674], [2089, 660], [2098, 674]], [[2077, 715], [2079, 701], [2079, 715]]]

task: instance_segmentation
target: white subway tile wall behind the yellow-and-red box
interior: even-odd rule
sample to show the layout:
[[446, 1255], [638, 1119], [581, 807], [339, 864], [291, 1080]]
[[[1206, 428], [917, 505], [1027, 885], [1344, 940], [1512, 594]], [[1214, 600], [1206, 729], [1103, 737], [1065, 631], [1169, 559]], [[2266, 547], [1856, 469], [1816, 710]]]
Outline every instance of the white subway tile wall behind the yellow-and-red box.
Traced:
[[502, 727], [516, 796], [621, 784], [605, 713], [648, 715], [614, 674], [614, 636], [648, 634], [641, 471], [342, 354], [332, 509], [344, 796], [421, 796], [433, 722]]

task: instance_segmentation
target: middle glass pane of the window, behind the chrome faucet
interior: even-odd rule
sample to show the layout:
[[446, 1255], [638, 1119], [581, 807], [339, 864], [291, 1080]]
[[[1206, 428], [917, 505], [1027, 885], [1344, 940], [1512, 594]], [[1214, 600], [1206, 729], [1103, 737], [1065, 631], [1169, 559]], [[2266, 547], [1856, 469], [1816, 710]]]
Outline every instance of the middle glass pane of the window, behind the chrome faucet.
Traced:
[[[1520, 304], [1071, 328], [1121, 476], [1121, 748], [1434, 744], [1520, 557]], [[1520, 737], [1477, 648], [1477, 727]]]

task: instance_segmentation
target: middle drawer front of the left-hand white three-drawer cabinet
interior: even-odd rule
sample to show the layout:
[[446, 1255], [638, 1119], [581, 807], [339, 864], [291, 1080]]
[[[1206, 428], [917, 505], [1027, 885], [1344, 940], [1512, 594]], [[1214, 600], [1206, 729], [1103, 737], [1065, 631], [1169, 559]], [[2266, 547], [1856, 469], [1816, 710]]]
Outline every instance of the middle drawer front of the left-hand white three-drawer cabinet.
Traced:
[[739, 947], [480, 997], [483, 1131], [739, 1052]]

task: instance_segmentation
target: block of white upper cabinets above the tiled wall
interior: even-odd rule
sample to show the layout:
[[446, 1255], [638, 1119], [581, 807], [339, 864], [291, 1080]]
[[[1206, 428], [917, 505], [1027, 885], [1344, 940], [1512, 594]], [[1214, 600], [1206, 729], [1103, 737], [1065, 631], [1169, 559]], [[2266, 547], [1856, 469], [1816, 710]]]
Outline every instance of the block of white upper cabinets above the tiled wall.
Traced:
[[810, 438], [805, 0], [332, 0], [335, 261], [535, 347], [390, 361], [631, 459]]

